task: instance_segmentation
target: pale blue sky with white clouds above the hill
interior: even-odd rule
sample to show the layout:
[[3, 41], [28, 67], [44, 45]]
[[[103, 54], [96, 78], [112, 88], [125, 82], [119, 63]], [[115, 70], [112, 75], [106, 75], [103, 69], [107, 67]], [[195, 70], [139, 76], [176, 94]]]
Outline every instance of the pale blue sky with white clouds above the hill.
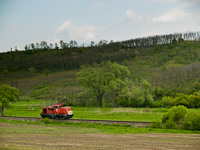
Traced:
[[0, 52], [200, 31], [200, 0], [0, 0]]

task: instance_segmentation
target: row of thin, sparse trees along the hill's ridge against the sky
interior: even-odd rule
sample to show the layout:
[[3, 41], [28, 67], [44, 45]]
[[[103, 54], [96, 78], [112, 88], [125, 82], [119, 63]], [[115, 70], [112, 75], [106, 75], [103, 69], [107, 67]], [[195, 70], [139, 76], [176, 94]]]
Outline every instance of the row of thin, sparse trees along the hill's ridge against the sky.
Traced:
[[42, 41], [40, 43], [31, 43], [25, 45], [25, 50], [38, 50], [38, 49], [67, 49], [67, 48], [74, 48], [74, 47], [94, 47], [94, 46], [103, 46], [103, 45], [112, 45], [112, 46], [121, 46], [121, 47], [138, 47], [138, 46], [155, 46], [155, 45], [163, 45], [163, 44], [175, 44], [178, 42], [183, 41], [198, 41], [200, 39], [200, 32], [186, 32], [186, 33], [174, 33], [174, 34], [167, 34], [167, 35], [155, 35], [155, 36], [148, 36], [143, 38], [136, 38], [121, 42], [110, 42], [106, 40], [100, 40], [98, 43], [91, 41], [90, 44], [78, 44], [77, 41], [69, 41], [64, 42], [60, 40], [59, 44], [55, 43], [47, 43], [46, 41]]

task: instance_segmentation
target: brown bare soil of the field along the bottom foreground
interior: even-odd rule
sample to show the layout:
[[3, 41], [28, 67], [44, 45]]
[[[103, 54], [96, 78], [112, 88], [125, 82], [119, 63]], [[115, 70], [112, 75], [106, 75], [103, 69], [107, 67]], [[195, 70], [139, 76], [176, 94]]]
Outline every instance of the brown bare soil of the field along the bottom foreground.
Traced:
[[[15, 125], [0, 123], [0, 127], [19, 128]], [[36, 127], [29, 125], [31, 127]], [[38, 126], [37, 126], [38, 127]], [[45, 126], [41, 125], [41, 128]], [[66, 131], [61, 133], [49, 131], [49, 134], [40, 133], [8, 133], [0, 134], [0, 149], [85, 149], [85, 150], [199, 150], [199, 134], [93, 134], [73, 133]]]

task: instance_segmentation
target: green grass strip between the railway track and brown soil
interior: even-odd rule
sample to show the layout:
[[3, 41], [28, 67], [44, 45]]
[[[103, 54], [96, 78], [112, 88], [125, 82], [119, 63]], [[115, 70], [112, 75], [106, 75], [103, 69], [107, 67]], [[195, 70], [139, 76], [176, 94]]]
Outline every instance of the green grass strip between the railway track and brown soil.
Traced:
[[[62, 133], [63, 127], [72, 133], [98, 133], [98, 134], [138, 134], [138, 133], [182, 133], [182, 134], [200, 134], [200, 131], [178, 130], [178, 129], [152, 129], [152, 128], [135, 128], [133, 126], [118, 124], [99, 124], [99, 123], [78, 123], [78, 122], [52, 122], [44, 124], [41, 121], [19, 121], [0, 119], [0, 122], [11, 124], [16, 128], [0, 127], [0, 134], [4, 133], [21, 133], [21, 134], [48, 134], [49, 131]], [[38, 126], [31, 126], [37, 124]], [[23, 126], [23, 127], [22, 127]], [[22, 128], [19, 128], [22, 127]], [[62, 127], [62, 128], [61, 128]]]

